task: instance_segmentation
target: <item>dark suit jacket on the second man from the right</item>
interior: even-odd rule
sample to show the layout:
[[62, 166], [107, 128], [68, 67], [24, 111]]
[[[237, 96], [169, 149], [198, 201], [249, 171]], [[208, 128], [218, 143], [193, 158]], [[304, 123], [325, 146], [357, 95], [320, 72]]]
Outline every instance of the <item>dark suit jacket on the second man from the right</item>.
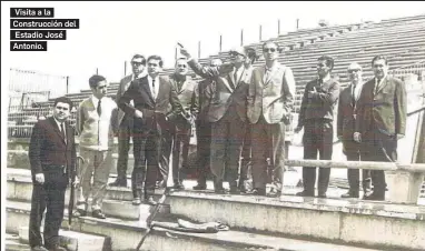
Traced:
[[338, 114], [337, 114], [337, 135], [343, 141], [343, 152], [357, 152], [359, 144], [354, 141], [353, 133], [356, 127], [356, 103], [359, 99], [354, 100], [353, 106], [352, 86], [344, 88], [339, 93]]

